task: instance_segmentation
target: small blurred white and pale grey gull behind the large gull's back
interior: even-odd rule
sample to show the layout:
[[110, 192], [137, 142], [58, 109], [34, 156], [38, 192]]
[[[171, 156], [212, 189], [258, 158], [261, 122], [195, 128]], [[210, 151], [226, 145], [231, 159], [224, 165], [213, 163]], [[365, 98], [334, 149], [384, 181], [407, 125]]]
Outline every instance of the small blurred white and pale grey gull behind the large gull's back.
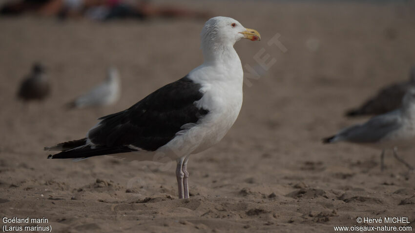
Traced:
[[109, 67], [103, 83], [67, 104], [69, 108], [87, 108], [111, 105], [120, 98], [120, 72]]

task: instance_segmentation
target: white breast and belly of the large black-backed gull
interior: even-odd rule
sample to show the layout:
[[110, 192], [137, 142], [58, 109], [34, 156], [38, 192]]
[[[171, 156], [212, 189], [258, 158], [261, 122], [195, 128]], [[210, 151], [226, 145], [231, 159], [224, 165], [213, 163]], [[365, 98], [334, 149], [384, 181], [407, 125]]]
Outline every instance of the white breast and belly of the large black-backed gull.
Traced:
[[196, 125], [180, 132], [158, 151], [176, 158], [197, 154], [219, 142], [228, 133], [242, 106], [243, 71], [239, 58], [237, 61], [239, 64], [232, 64], [228, 66], [230, 68], [200, 66], [189, 73], [189, 78], [202, 86], [200, 91], [203, 97], [195, 104], [209, 112]]

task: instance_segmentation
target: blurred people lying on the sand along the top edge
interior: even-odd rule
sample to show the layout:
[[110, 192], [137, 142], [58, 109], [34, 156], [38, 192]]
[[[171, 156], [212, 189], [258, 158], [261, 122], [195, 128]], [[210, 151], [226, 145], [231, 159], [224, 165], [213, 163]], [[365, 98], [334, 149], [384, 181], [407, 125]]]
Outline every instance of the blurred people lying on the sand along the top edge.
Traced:
[[0, 8], [1, 15], [32, 12], [61, 19], [86, 16], [91, 19], [148, 19], [155, 17], [206, 19], [207, 12], [170, 5], [157, 6], [148, 0], [11, 0]]

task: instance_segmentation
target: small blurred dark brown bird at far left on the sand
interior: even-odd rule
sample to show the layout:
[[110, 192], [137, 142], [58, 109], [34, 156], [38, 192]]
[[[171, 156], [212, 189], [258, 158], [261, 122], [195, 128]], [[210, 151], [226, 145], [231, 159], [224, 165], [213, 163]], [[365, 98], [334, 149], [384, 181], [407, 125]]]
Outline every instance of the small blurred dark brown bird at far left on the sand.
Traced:
[[23, 101], [42, 100], [49, 95], [50, 87], [44, 67], [35, 63], [32, 72], [21, 82], [18, 97]]

